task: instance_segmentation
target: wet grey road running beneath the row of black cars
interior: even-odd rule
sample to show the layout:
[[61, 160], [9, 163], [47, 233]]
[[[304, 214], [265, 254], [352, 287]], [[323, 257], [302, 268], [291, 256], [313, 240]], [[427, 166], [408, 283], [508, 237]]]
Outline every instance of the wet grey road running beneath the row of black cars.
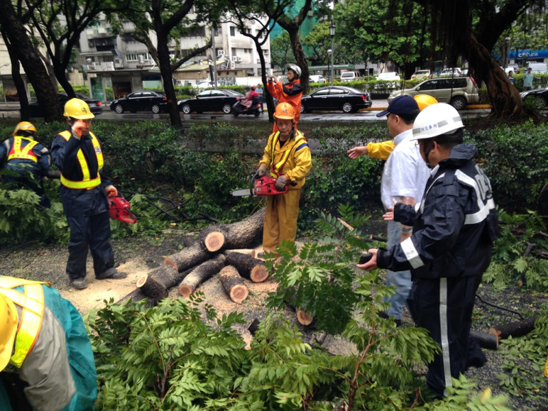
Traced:
[[[312, 113], [303, 113], [301, 114], [301, 121], [379, 121], [384, 120], [384, 118], [379, 119], [377, 113], [386, 108], [386, 100], [373, 100], [373, 105], [369, 109], [362, 110], [357, 113], [345, 114], [343, 112], [312, 112]], [[489, 108], [471, 108], [465, 109], [460, 112], [460, 115], [463, 119], [475, 119], [477, 117], [484, 117], [490, 113]], [[0, 115], [3, 117], [18, 117], [19, 112], [17, 107], [5, 107], [0, 106]], [[110, 111], [108, 104], [105, 104], [103, 112], [99, 115], [99, 119], [103, 120], [123, 120], [123, 119], [165, 119], [166, 114], [152, 114], [149, 112], [139, 112], [139, 113], [123, 113], [116, 114], [113, 111]], [[211, 121], [212, 119], [223, 120], [223, 121], [232, 121], [234, 119], [243, 120], [243, 121], [268, 121], [269, 116], [264, 113], [258, 117], [255, 116], [238, 116], [234, 117], [232, 115], [226, 115], [221, 112], [212, 112], [206, 114], [182, 114], [181, 118], [183, 120], [207, 120]]]

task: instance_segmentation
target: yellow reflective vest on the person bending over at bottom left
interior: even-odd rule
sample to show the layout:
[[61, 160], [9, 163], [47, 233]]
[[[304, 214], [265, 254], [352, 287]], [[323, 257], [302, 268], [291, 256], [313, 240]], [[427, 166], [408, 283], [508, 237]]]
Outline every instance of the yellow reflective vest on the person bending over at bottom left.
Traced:
[[[44, 315], [44, 290], [46, 282], [31, 281], [15, 277], [0, 277], [0, 292], [14, 304], [23, 309], [15, 337], [15, 351], [10, 358], [10, 364], [21, 368], [23, 362], [32, 351]], [[23, 292], [14, 288], [23, 286]]]

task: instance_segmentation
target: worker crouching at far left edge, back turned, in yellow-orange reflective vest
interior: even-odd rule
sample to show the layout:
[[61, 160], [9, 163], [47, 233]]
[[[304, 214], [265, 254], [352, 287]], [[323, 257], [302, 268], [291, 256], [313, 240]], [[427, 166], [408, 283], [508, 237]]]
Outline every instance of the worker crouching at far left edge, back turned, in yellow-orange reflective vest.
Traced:
[[49, 151], [36, 141], [36, 127], [28, 121], [15, 126], [12, 137], [0, 145], [0, 164], [3, 165], [3, 183], [10, 190], [29, 188], [40, 197], [40, 206], [49, 208], [42, 179], [50, 166]]

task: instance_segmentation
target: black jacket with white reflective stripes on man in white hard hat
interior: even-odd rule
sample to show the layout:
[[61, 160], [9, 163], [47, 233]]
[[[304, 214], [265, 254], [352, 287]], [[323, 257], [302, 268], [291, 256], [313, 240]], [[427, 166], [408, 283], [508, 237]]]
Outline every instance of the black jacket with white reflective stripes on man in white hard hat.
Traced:
[[456, 145], [432, 170], [417, 210], [395, 206], [395, 220], [413, 225], [413, 235], [390, 250], [379, 249], [377, 266], [411, 269], [414, 278], [482, 275], [499, 225], [489, 179], [472, 160], [475, 153], [469, 143]]

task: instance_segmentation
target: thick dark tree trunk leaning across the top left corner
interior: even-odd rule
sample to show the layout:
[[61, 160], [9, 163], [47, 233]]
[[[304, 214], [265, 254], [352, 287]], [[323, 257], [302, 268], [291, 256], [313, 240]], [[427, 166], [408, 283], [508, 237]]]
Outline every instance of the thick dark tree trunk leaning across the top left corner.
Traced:
[[27, 36], [25, 26], [18, 20], [10, 1], [0, 1], [0, 25], [12, 45], [18, 47], [18, 58], [29, 82], [34, 87], [36, 98], [42, 106], [45, 121], [61, 121], [61, 109], [47, 70], [40, 54]]

